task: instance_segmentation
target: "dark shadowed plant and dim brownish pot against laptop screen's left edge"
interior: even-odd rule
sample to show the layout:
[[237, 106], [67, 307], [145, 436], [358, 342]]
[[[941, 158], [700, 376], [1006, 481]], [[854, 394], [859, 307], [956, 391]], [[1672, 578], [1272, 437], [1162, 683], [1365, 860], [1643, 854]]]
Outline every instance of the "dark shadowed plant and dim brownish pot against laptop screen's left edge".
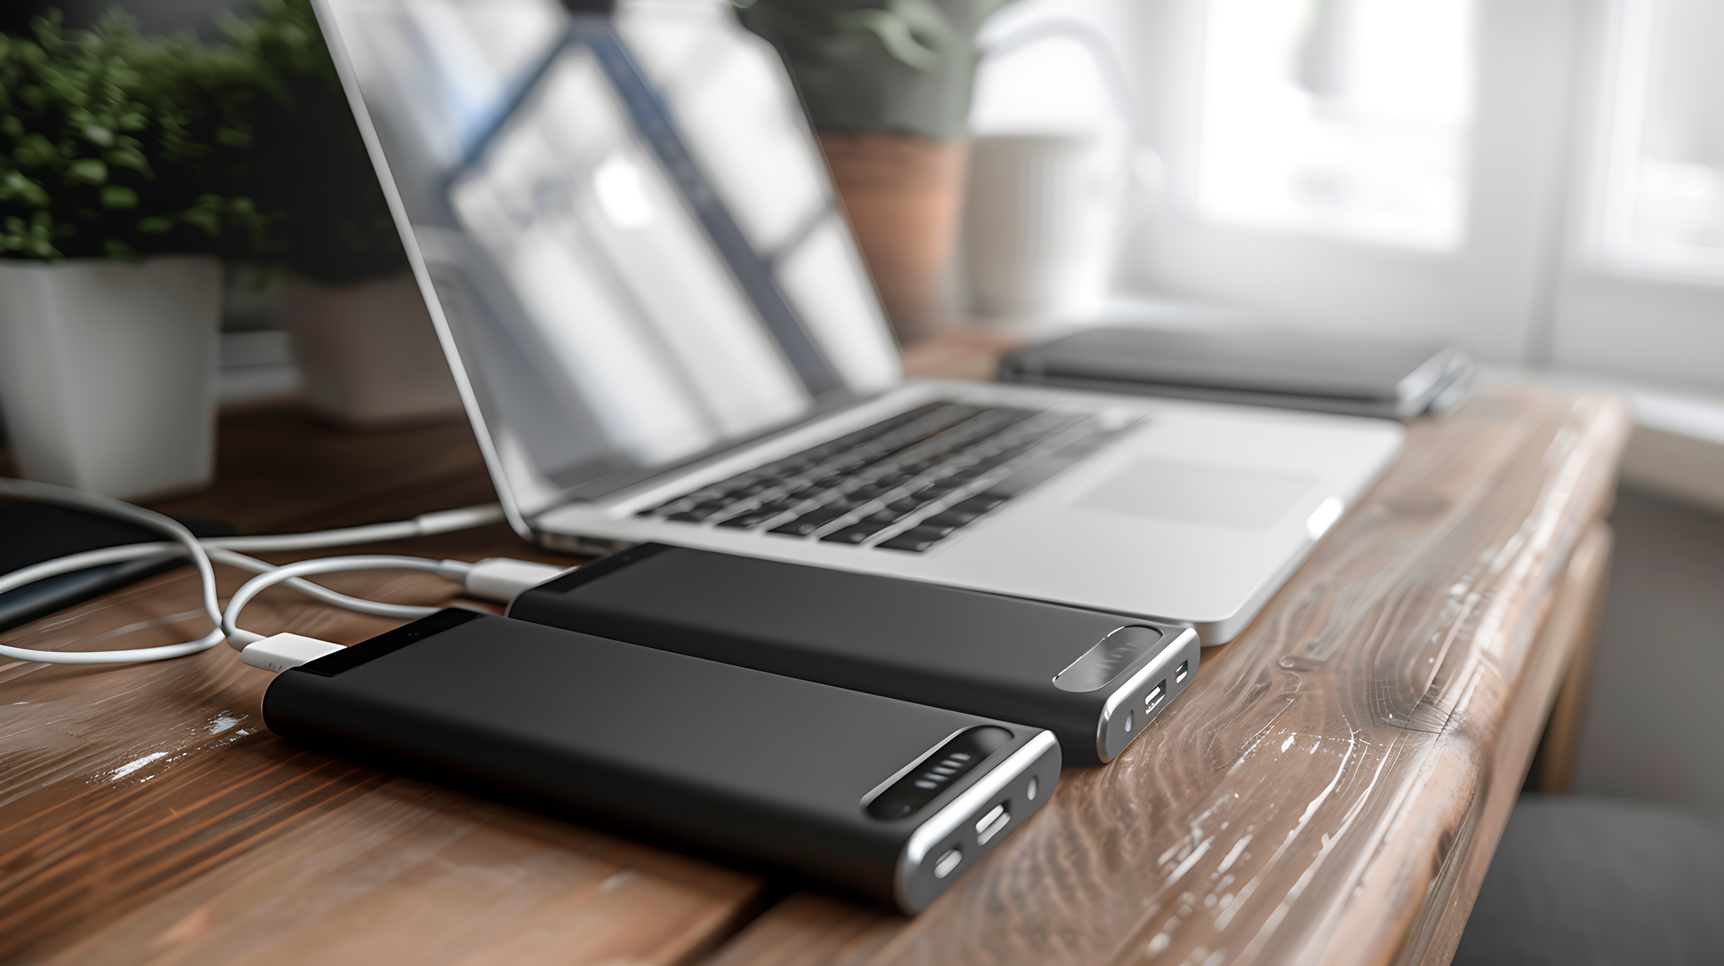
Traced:
[[314, 412], [376, 426], [460, 412], [395, 219], [309, 0], [255, 0], [231, 41], [283, 85], [253, 98], [247, 188], [274, 214], [283, 326]]

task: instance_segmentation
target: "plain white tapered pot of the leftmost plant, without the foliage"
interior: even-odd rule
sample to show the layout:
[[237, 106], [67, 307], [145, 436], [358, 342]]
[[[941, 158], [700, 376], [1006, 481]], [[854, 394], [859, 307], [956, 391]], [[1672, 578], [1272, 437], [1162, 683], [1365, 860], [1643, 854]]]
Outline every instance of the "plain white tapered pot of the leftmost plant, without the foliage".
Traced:
[[207, 486], [221, 262], [0, 260], [0, 407], [21, 476], [136, 499]]

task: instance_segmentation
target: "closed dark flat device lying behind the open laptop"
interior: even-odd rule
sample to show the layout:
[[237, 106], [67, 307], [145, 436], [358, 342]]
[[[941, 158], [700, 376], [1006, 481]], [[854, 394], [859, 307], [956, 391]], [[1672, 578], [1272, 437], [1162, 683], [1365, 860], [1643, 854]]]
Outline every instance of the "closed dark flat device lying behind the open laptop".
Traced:
[[1095, 328], [1000, 361], [1002, 383], [1410, 419], [1443, 412], [1472, 357], [1441, 345], [1284, 331]]

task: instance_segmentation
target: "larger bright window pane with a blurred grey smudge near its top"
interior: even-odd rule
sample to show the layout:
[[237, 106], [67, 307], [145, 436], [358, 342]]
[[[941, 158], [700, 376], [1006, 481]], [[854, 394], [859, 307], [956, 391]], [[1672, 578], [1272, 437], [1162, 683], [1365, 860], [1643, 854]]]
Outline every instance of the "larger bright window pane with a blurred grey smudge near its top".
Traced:
[[1209, 0], [1205, 14], [1207, 219], [1460, 245], [1472, 0]]

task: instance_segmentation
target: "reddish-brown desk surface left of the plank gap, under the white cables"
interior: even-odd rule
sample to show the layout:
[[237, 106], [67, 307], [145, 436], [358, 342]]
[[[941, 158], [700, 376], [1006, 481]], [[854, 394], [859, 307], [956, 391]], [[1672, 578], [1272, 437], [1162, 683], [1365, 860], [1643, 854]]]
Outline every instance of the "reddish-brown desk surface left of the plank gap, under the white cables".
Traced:
[[[259, 533], [495, 499], [464, 423], [355, 435], [260, 409], [224, 417], [219, 452], [221, 485], [162, 509]], [[572, 562], [502, 526], [376, 547]], [[224, 593], [243, 580], [217, 571]], [[329, 583], [402, 604], [455, 590]], [[205, 630], [195, 607], [178, 571], [0, 640], [169, 643]], [[353, 643], [400, 621], [269, 592], [245, 623]], [[0, 961], [674, 963], [755, 909], [753, 876], [295, 749], [259, 724], [267, 683], [224, 647], [0, 669]]]

